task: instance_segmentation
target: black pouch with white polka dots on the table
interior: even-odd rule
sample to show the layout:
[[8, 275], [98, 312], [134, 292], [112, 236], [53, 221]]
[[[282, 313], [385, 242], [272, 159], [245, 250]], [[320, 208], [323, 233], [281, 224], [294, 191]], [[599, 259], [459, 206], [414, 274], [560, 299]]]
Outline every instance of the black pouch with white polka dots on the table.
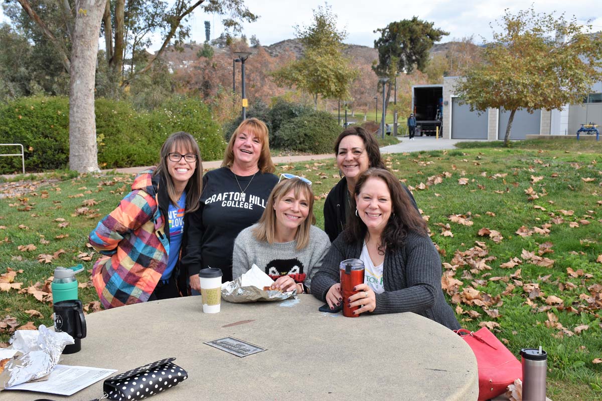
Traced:
[[188, 373], [167, 358], [147, 364], [105, 380], [103, 391], [109, 400], [143, 400], [174, 387], [188, 378]]

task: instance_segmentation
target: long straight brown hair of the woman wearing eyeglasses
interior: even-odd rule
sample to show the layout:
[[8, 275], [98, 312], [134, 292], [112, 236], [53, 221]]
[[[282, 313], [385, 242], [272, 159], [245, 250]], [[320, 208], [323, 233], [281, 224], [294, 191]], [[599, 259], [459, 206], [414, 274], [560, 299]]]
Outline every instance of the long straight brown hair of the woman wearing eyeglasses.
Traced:
[[200, 192], [203, 187], [203, 164], [200, 158], [199, 144], [196, 143], [196, 139], [190, 133], [179, 131], [172, 133], [167, 140], [161, 146], [159, 152], [160, 162], [153, 175], [163, 174], [167, 183], [167, 194], [169, 200], [172, 201], [173, 206], [178, 205], [178, 195], [173, 185], [172, 176], [169, 174], [167, 169], [167, 157], [170, 152], [173, 152], [178, 147], [186, 149], [188, 153], [194, 153], [196, 155], [196, 168], [188, 183], [186, 184], [186, 207], [185, 213], [194, 212], [199, 209], [199, 198]]

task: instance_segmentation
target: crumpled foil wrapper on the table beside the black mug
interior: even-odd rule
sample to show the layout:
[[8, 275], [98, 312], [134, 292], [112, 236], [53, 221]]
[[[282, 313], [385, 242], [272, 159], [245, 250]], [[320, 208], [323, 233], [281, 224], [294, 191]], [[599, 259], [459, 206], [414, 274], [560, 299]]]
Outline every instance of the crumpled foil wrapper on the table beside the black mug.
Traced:
[[0, 373], [0, 390], [47, 376], [58, 364], [67, 344], [75, 341], [66, 332], [54, 332], [45, 325], [37, 330], [17, 330], [10, 343], [17, 353]]

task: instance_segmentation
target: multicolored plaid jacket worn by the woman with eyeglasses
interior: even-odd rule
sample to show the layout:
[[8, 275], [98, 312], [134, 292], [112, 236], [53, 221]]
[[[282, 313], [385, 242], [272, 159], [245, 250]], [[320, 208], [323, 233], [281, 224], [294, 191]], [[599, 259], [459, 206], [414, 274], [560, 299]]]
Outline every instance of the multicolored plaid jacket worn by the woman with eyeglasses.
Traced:
[[153, 177], [153, 171], [134, 179], [132, 192], [88, 238], [105, 255], [92, 269], [92, 282], [105, 308], [146, 302], [167, 267], [169, 234], [158, 207], [159, 177]]

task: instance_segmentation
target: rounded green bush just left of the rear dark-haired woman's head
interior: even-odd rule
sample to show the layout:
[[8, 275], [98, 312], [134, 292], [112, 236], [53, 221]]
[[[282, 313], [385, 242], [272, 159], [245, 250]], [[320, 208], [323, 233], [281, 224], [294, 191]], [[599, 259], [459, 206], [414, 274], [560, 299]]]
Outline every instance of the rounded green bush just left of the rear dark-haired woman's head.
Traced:
[[306, 112], [282, 124], [275, 134], [275, 148], [309, 153], [331, 153], [341, 132], [337, 120], [328, 112]]

